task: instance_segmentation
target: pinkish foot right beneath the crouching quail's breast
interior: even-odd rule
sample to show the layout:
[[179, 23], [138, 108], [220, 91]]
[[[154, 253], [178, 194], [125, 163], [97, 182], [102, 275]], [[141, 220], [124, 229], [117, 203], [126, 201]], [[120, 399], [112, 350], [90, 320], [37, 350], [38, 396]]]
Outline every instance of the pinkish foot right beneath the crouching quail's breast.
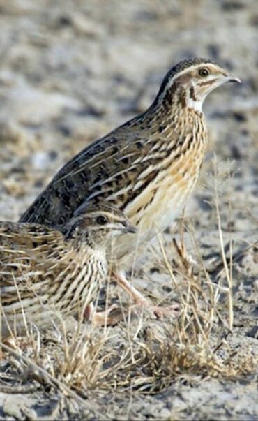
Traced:
[[118, 309], [116, 304], [112, 304], [104, 311], [96, 311], [93, 303], [86, 306], [84, 311], [84, 318], [91, 322], [94, 326], [116, 325], [123, 320], [123, 313], [110, 314], [114, 309]]

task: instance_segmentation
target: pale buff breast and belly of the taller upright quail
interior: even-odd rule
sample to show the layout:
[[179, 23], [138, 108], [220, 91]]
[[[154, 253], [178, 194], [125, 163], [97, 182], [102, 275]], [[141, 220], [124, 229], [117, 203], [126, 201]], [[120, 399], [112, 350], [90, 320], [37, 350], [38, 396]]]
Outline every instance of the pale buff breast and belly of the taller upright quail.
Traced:
[[137, 240], [132, 235], [119, 237], [116, 244], [119, 258], [135, 248], [136, 243], [146, 244], [164, 231], [185, 206], [199, 177], [206, 151], [206, 132], [202, 131], [199, 138], [189, 142], [188, 149], [181, 149], [162, 161], [155, 179], [126, 207], [126, 216], [139, 232]]

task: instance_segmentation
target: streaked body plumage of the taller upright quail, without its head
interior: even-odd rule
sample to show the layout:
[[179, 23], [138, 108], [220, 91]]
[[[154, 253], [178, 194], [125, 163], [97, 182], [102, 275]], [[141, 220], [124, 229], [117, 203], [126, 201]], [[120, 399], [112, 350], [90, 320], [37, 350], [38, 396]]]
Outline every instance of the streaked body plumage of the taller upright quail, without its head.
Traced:
[[[61, 169], [22, 221], [56, 226], [79, 207], [105, 200], [139, 228], [139, 244], [165, 230], [194, 189], [206, 151], [204, 115], [176, 112], [175, 121], [160, 117], [154, 127], [150, 113], [131, 121], [130, 130], [122, 126], [90, 145]], [[135, 249], [135, 238], [121, 236], [116, 244], [115, 260]]]

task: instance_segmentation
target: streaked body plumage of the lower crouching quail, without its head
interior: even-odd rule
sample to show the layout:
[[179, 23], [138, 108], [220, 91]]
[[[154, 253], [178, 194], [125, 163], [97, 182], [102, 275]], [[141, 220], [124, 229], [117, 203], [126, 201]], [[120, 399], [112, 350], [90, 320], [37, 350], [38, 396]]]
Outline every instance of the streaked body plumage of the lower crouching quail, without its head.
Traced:
[[104, 250], [66, 241], [57, 230], [0, 223], [2, 336], [26, 323], [47, 327], [96, 298], [107, 276]]

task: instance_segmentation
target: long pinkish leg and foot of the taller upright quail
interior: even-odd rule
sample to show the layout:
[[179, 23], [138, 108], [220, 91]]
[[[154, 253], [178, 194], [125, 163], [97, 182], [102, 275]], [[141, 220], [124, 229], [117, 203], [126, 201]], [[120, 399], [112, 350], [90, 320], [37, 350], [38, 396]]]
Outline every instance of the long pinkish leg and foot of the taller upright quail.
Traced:
[[171, 306], [153, 306], [151, 301], [147, 300], [144, 295], [132, 286], [126, 279], [126, 276], [122, 272], [112, 272], [112, 276], [116, 279], [116, 282], [128, 293], [136, 306], [151, 310], [157, 318], [163, 318], [164, 316], [178, 316], [179, 315], [179, 304], [172, 304]]

